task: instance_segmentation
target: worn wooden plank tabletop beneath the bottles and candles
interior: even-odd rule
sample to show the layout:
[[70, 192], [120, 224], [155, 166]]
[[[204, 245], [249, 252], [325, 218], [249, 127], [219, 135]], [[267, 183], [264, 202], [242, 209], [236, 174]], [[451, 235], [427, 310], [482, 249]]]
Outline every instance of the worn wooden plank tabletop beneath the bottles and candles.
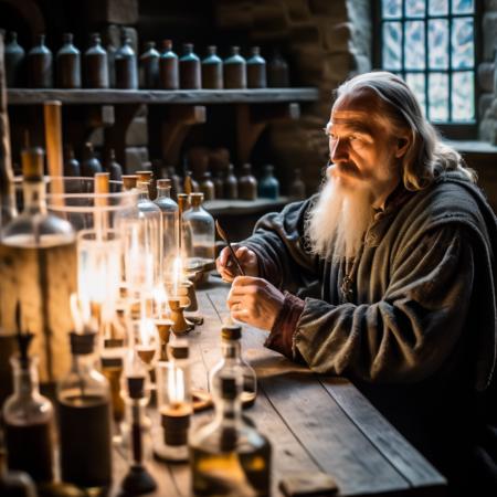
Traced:
[[[229, 286], [211, 277], [198, 292], [204, 324], [190, 335], [193, 387], [208, 390], [208, 371], [219, 361], [221, 324]], [[258, 394], [245, 411], [273, 445], [273, 496], [278, 482], [300, 472], [332, 475], [340, 495], [441, 496], [445, 479], [343, 378], [316, 376], [263, 347], [266, 332], [244, 326], [242, 350], [255, 369]], [[209, 414], [212, 415], [212, 414]], [[203, 414], [205, 416], [205, 414]], [[193, 423], [202, 415], [195, 414]], [[197, 421], [195, 421], [197, 419]], [[126, 463], [114, 457], [117, 494]], [[187, 464], [148, 463], [160, 497], [190, 495]]]

